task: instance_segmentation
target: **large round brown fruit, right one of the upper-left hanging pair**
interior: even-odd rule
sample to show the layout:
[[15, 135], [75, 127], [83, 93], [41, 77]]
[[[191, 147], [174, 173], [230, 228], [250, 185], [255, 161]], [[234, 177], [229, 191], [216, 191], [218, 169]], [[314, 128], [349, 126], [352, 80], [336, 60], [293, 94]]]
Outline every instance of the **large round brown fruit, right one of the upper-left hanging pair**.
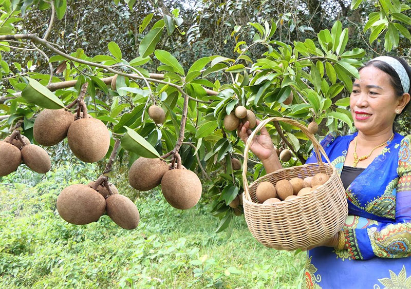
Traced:
[[94, 163], [105, 157], [110, 147], [110, 133], [100, 120], [80, 119], [70, 125], [67, 141], [74, 156]]

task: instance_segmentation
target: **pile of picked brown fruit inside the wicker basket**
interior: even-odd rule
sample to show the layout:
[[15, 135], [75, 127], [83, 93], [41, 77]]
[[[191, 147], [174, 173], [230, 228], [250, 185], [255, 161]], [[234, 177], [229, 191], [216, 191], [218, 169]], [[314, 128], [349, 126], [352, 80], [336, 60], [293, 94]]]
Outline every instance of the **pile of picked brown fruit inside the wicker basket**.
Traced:
[[259, 203], [266, 205], [289, 201], [311, 194], [313, 190], [325, 184], [329, 178], [327, 174], [320, 172], [304, 180], [300, 178], [279, 180], [275, 185], [269, 181], [265, 181], [258, 184], [255, 190], [255, 196]]

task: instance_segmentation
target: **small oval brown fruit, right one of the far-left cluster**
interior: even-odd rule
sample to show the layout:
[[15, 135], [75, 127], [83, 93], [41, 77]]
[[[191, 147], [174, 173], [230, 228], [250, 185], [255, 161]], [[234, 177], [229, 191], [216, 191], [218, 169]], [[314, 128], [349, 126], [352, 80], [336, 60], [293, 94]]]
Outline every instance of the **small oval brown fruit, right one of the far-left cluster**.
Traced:
[[22, 159], [30, 169], [40, 174], [46, 174], [51, 168], [50, 157], [47, 151], [38, 145], [25, 145], [22, 149]]

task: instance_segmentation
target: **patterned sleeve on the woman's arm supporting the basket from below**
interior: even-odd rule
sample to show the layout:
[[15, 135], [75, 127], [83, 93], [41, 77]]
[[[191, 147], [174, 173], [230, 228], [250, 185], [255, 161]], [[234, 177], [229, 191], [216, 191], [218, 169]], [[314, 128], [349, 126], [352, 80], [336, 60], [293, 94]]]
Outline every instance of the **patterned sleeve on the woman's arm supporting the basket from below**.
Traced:
[[398, 153], [395, 222], [364, 229], [344, 230], [353, 259], [411, 256], [411, 135], [401, 141]]

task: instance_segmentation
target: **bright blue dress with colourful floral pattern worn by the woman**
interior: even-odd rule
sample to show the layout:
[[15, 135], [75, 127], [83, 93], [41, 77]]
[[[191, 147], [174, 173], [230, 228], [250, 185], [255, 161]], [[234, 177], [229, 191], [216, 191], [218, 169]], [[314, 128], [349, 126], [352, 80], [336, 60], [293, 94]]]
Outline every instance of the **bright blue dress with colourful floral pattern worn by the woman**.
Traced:
[[[357, 136], [322, 142], [341, 174], [349, 143]], [[346, 247], [308, 251], [306, 288], [411, 288], [411, 136], [395, 133], [346, 190]], [[307, 163], [316, 162], [310, 156]]]

